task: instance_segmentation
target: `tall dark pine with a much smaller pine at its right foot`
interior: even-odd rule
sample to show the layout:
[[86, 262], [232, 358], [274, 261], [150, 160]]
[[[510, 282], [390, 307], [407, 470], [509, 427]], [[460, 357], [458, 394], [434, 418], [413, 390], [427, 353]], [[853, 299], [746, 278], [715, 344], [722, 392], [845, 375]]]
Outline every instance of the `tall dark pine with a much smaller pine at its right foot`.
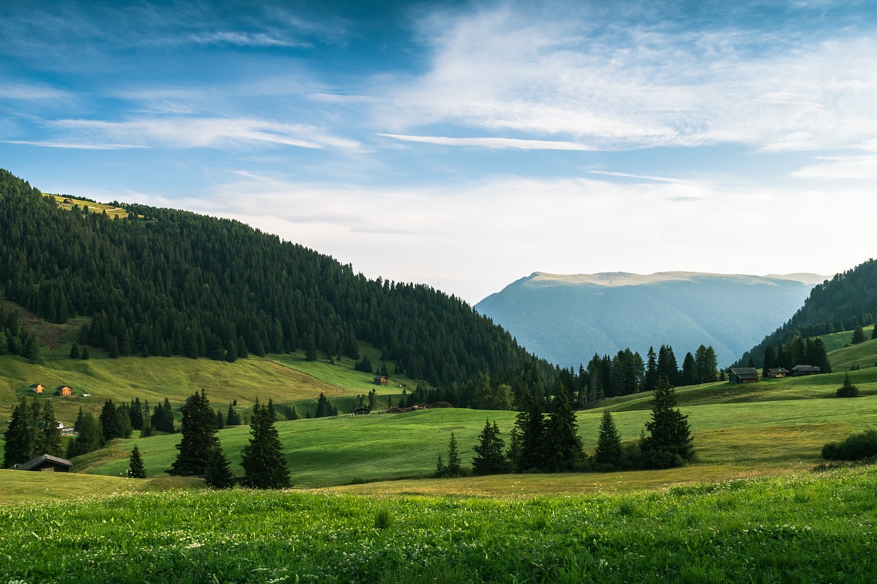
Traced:
[[210, 449], [217, 445], [216, 414], [203, 389], [190, 395], [180, 411], [182, 439], [176, 445], [180, 452], [167, 472], [177, 476], [204, 474]]

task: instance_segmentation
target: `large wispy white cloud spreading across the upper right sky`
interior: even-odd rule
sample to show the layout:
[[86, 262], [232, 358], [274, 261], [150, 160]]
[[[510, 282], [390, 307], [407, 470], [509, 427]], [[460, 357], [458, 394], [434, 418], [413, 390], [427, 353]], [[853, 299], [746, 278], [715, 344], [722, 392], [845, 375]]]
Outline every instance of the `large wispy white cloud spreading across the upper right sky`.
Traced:
[[508, 6], [436, 17], [430, 67], [389, 88], [379, 122], [394, 133], [452, 124], [600, 148], [774, 151], [857, 147], [877, 127], [873, 31], [782, 38], [562, 18]]

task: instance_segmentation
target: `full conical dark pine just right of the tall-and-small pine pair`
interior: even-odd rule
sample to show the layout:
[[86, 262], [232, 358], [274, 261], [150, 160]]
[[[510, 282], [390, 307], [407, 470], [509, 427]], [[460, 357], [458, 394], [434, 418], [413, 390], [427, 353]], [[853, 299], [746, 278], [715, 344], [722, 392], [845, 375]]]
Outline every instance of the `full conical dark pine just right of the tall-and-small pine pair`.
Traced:
[[291, 481], [280, 437], [258, 398], [253, 405], [250, 433], [250, 443], [241, 452], [240, 466], [244, 467], [241, 484], [251, 488], [288, 488]]

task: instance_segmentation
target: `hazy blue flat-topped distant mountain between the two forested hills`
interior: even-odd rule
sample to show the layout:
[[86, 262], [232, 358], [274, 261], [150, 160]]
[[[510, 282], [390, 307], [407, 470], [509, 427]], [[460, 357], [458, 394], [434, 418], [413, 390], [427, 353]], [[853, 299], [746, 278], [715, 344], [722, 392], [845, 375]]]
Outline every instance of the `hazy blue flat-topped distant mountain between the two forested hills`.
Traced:
[[649, 346], [685, 353], [712, 345], [719, 366], [739, 356], [800, 309], [817, 274], [559, 275], [534, 272], [475, 304], [528, 351], [561, 367], [595, 353]]

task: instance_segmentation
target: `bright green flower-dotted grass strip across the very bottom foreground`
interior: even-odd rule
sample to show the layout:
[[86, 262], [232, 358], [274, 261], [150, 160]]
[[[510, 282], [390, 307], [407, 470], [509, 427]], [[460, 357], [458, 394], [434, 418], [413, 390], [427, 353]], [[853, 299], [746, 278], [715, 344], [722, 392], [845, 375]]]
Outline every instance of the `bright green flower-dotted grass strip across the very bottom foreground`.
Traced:
[[815, 582], [877, 573], [877, 471], [622, 495], [183, 492], [0, 509], [0, 578]]

